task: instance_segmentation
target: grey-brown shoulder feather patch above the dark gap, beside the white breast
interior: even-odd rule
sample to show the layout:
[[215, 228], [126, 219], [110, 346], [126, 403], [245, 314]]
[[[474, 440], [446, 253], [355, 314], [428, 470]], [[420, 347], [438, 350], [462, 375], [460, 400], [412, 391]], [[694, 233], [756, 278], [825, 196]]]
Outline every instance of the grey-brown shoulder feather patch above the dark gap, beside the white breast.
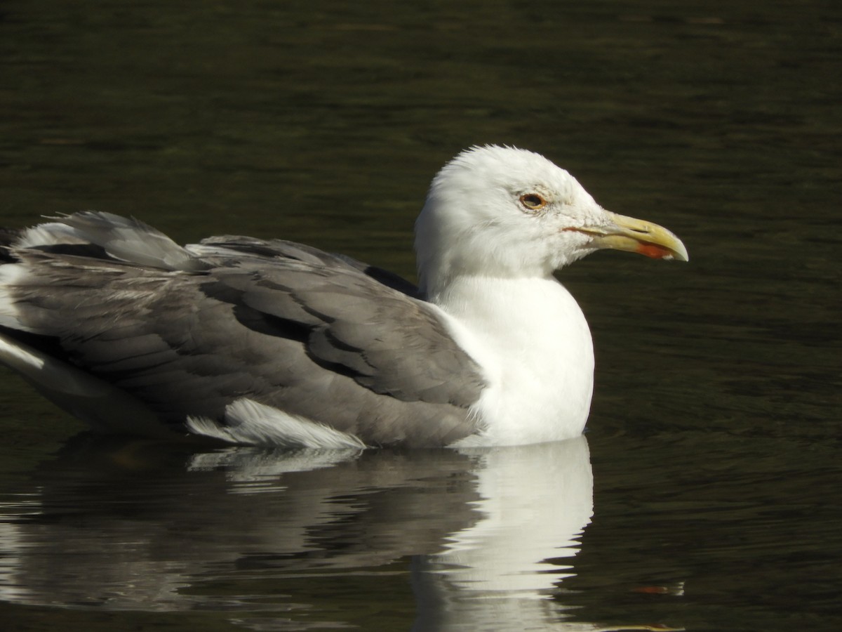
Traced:
[[466, 408], [482, 390], [476, 364], [428, 304], [358, 270], [266, 266], [246, 274], [223, 270], [219, 279], [240, 289], [249, 307], [315, 325], [310, 356], [344, 367], [376, 393]]

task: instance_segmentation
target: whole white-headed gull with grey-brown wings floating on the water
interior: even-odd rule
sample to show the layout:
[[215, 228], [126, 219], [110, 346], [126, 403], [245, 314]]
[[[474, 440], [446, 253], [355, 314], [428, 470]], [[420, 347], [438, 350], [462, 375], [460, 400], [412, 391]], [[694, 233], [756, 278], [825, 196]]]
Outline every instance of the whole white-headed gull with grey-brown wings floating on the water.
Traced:
[[281, 239], [180, 246], [80, 212], [0, 247], [0, 362], [95, 430], [284, 447], [577, 437], [588, 324], [554, 273], [598, 249], [687, 260], [537, 153], [472, 147], [415, 224], [418, 287]]

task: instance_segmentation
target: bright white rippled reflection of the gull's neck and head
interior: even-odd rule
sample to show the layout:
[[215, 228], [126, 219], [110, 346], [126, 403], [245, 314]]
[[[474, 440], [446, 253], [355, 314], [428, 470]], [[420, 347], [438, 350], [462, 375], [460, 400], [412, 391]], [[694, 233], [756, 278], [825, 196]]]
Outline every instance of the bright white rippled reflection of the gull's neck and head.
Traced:
[[415, 629], [541, 629], [564, 616], [550, 597], [572, 571], [557, 560], [578, 552], [593, 515], [588, 444], [578, 437], [477, 455], [482, 497], [472, 504], [481, 518], [419, 560]]

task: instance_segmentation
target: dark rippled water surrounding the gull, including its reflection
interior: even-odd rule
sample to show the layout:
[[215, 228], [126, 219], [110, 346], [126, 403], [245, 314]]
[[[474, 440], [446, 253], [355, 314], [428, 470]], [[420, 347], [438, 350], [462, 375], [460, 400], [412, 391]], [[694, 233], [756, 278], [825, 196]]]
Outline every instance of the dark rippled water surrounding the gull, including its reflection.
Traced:
[[429, 178], [498, 142], [690, 264], [562, 273], [598, 367], [557, 445], [184, 452], [3, 372], [3, 629], [842, 627], [842, 12], [563, 4], [4, 3], [5, 225], [95, 208], [411, 276]]

